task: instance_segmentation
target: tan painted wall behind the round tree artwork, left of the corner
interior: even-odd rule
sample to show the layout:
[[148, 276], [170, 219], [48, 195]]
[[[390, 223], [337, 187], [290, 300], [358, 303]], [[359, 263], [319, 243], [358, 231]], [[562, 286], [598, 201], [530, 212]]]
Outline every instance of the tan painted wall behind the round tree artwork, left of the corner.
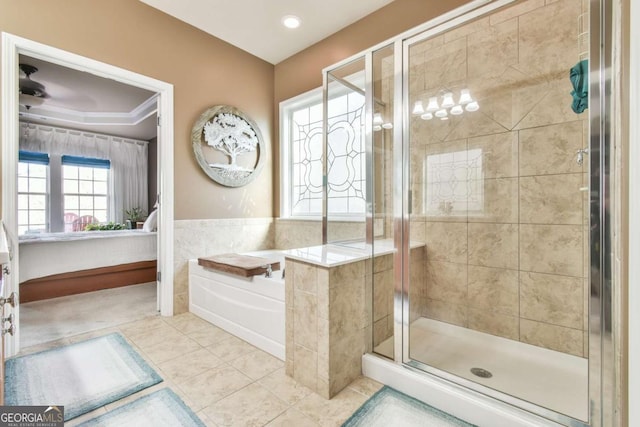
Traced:
[[0, 0], [0, 11], [0, 31], [174, 85], [176, 220], [272, 216], [271, 162], [251, 184], [222, 187], [196, 163], [190, 133], [208, 107], [229, 104], [270, 146], [273, 65], [139, 1]]

